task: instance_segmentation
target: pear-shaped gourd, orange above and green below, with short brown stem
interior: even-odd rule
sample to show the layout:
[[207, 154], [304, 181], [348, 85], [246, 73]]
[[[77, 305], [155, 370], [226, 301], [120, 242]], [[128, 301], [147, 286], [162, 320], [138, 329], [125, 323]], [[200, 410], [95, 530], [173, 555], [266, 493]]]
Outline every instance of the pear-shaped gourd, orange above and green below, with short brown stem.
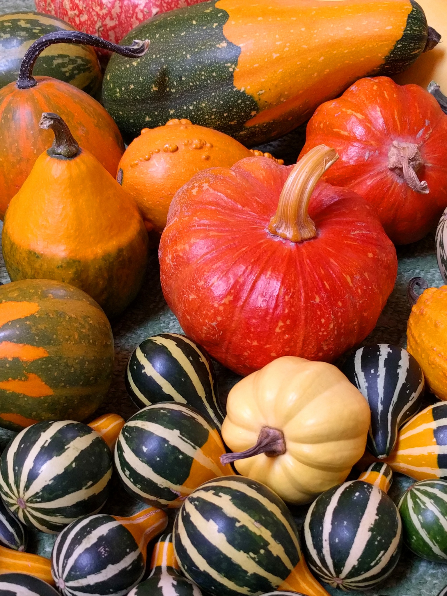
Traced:
[[134, 201], [66, 123], [42, 114], [52, 147], [38, 157], [11, 200], [3, 254], [11, 280], [42, 278], [75, 285], [108, 316], [135, 298], [147, 261], [147, 232]]

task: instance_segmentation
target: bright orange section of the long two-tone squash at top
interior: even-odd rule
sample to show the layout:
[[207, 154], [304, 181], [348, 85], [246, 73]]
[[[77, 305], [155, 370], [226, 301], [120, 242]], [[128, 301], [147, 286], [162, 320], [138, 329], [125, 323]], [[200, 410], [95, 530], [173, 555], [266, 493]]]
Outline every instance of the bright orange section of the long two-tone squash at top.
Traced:
[[[303, 106], [308, 106], [310, 116], [337, 90], [342, 92], [353, 80], [374, 72], [401, 39], [412, 10], [409, 0], [300, 0], [293, 6], [282, 0], [236, 5], [219, 0], [216, 7], [229, 14], [226, 39], [241, 48], [234, 85], [262, 110], [252, 114], [246, 126], [293, 117]], [[251, 27], [247, 15], [252, 17]], [[252, 27], [262, 36], [256, 44], [247, 43]]]

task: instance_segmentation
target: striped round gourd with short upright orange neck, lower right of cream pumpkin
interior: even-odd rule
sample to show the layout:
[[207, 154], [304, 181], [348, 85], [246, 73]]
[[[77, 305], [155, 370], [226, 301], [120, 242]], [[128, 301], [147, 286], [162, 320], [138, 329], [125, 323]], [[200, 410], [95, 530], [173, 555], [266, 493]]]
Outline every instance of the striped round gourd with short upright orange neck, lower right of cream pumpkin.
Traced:
[[303, 526], [309, 567], [344, 591], [367, 590], [383, 581], [402, 550], [401, 516], [378, 488], [390, 485], [389, 466], [373, 464], [362, 477], [368, 480], [351, 480], [322, 493]]

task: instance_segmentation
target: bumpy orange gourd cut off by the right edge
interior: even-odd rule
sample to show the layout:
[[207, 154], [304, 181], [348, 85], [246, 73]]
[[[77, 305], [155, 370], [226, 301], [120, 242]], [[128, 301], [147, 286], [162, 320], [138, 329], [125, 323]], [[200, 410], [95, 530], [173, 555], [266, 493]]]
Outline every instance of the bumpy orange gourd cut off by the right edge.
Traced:
[[447, 400], [447, 285], [429, 288], [411, 309], [407, 350], [423, 370], [427, 386]]

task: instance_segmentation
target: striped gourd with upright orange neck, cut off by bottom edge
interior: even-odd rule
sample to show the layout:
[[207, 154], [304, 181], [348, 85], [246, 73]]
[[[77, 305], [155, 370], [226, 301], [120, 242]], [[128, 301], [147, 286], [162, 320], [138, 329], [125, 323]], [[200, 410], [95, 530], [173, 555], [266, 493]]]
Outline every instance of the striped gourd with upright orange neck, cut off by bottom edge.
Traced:
[[152, 553], [149, 577], [132, 589], [129, 596], [202, 596], [200, 589], [181, 575], [172, 533], [160, 536]]

